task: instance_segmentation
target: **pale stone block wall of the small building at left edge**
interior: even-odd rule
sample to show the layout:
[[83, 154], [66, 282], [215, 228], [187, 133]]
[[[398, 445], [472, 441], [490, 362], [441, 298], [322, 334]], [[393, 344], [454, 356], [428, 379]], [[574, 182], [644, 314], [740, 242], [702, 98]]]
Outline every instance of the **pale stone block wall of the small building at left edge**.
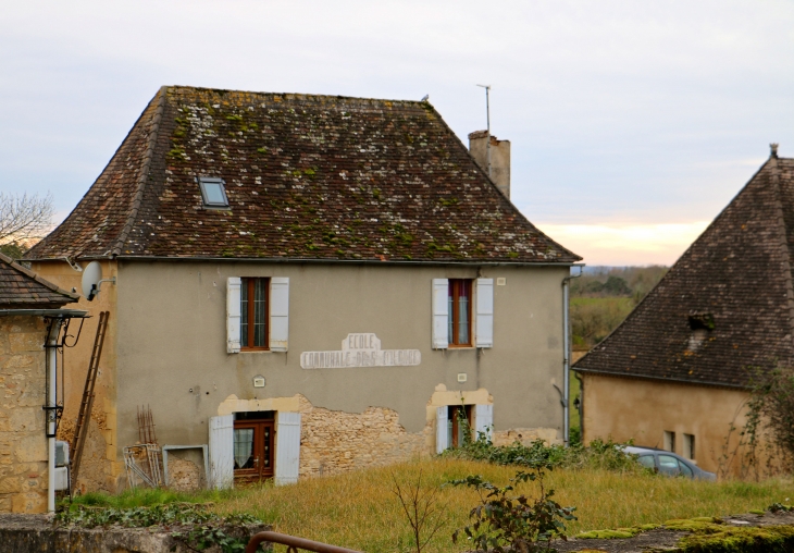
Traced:
[[0, 317], [0, 513], [47, 509], [46, 336], [40, 317]]

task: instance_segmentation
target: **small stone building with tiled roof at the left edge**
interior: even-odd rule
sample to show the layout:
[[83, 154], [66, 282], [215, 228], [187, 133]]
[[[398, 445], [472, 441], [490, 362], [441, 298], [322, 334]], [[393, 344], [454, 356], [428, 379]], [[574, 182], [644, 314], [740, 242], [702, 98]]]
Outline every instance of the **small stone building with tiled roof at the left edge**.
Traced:
[[0, 254], [0, 513], [47, 509], [45, 344], [77, 297]]

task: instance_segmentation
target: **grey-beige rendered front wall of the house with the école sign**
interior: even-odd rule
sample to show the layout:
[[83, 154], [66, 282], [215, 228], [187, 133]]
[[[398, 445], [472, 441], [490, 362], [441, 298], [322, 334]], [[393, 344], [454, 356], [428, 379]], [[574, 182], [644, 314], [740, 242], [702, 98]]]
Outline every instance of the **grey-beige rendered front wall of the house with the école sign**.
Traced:
[[[431, 349], [431, 282], [476, 278], [476, 268], [256, 262], [119, 262], [119, 447], [137, 440], [136, 407], [150, 405], [161, 444], [208, 441], [208, 419], [229, 395], [301, 394], [314, 407], [398, 414], [425, 432], [436, 386], [494, 402], [497, 431], [545, 429], [561, 437], [562, 288], [567, 268], [482, 268], [494, 286], [491, 349]], [[226, 353], [226, 279], [288, 276], [289, 352]], [[495, 282], [496, 284], [496, 282]], [[307, 370], [301, 352], [336, 351], [355, 332], [384, 349], [419, 349], [415, 367]], [[458, 373], [468, 381], [458, 383]], [[264, 376], [266, 386], [253, 388]]]

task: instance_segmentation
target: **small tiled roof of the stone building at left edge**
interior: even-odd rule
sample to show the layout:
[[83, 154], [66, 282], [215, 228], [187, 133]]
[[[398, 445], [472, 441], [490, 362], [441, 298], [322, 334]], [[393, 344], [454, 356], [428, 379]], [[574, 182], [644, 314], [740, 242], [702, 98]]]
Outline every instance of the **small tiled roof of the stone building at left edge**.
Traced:
[[0, 254], [0, 309], [58, 309], [77, 299]]

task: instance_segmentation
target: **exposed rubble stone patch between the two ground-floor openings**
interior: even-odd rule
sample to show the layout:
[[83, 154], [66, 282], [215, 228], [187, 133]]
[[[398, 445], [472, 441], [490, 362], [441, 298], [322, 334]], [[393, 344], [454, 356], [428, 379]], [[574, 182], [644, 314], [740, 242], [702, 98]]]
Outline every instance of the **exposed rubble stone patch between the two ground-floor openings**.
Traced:
[[333, 475], [357, 468], [388, 465], [426, 454], [425, 437], [409, 433], [399, 414], [384, 407], [343, 413], [314, 407], [299, 396], [301, 413], [301, 477]]

